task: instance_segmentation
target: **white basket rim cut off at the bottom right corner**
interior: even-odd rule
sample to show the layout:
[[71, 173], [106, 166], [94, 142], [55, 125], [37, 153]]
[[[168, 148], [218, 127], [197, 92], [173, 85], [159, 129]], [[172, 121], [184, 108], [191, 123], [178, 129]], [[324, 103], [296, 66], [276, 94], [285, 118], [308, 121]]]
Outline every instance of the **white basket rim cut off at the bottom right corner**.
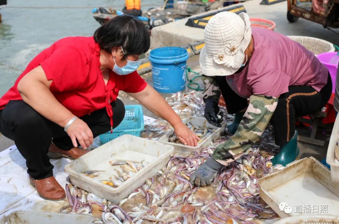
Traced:
[[274, 224], [339, 224], [339, 216], [329, 214], [304, 214], [284, 218]]

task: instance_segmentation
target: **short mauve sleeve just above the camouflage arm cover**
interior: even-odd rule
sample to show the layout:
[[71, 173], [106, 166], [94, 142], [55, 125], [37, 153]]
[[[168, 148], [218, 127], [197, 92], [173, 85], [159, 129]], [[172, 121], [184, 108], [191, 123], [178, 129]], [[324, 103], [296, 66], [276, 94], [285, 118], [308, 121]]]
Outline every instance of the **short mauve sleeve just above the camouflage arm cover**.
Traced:
[[249, 80], [248, 86], [252, 89], [253, 95], [264, 95], [277, 97], [288, 92], [290, 76], [284, 72], [270, 69], [264, 70]]

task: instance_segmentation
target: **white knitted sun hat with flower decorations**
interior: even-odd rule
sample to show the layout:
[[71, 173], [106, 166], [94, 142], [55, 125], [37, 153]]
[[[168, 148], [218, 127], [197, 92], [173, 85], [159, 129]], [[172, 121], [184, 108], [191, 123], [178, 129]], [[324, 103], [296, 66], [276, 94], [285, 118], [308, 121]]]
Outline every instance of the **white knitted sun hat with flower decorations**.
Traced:
[[238, 71], [251, 36], [251, 22], [246, 13], [221, 12], [213, 16], [204, 30], [205, 46], [199, 56], [202, 73], [225, 76]]

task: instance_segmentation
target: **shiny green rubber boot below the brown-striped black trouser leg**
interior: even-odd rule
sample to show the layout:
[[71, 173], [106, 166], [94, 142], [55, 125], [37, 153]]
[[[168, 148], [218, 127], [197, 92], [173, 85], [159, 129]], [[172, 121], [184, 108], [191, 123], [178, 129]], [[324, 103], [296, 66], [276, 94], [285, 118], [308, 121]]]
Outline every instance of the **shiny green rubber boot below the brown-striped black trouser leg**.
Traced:
[[287, 142], [282, 148], [280, 148], [279, 153], [277, 153], [274, 158], [271, 160], [273, 166], [276, 164], [281, 164], [286, 166], [288, 163], [293, 162], [299, 155], [299, 149], [297, 145], [298, 132], [295, 131], [293, 138]]

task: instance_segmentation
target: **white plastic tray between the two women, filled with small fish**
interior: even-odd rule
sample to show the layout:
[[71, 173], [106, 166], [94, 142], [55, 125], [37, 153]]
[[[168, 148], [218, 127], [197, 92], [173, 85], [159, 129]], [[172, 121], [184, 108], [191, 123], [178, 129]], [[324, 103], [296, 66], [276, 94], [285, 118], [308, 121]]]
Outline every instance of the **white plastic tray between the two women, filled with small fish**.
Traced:
[[221, 123], [221, 125], [222, 125], [221, 127], [216, 127], [216, 126], [208, 123], [205, 118], [191, 116], [191, 117], [185, 119], [183, 121], [183, 123], [186, 124], [190, 121], [195, 126], [213, 128], [216, 131], [213, 132], [206, 139], [204, 139], [196, 147], [188, 146], [188, 145], [184, 145], [184, 144], [177, 144], [177, 143], [173, 143], [173, 142], [168, 142], [168, 138], [169, 138], [170, 135], [173, 134], [174, 130], [167, 132], [165, 135], [163, 135], [161, 138], [159, 138], [159, 142], [164, 143], [164, 144], [173, 145], [174, 151], [177, 152], [177, 153], [191, 153], [191, 152], [198, 151], [198, 150], [201, 150], [203, 148], [208, 147], [212, 141], [217, 140], [220, 137], [220, 135], [223, 134], [224, 131], [225, 131], [226, 122], [224, 122], [224, 121]]

